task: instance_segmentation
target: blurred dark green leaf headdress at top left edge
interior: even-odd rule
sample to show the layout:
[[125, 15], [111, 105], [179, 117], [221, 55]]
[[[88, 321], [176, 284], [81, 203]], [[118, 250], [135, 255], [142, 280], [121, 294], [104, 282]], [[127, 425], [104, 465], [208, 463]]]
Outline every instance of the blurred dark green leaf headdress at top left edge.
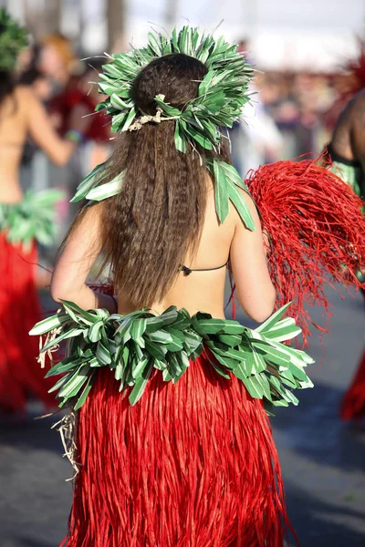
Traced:
[[19, 52], [27, 46], [28, 34], [4, 7], [0, 8], [0, 70], [12, 71]]

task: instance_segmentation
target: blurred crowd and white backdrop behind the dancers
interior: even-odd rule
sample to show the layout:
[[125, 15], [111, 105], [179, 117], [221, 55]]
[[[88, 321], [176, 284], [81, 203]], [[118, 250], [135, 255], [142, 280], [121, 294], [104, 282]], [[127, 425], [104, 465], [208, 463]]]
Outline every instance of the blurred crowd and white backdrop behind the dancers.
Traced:
[[[75, 125], [80, 112], [84, 116], [79, 123], [85, 138], [66, 167], [54, 168], [28, 142], [22, 162], [25, 189], [57, 186], [70, 196], [78, 181], [106, 159], [112, 147], [109, 120], [92, 115], [100, 100], [95, 82], [107, 60], [104, 52], [139, 46], [151, 25], [169, 29], [189, 16], [191, 23], [211, 30], [224, 17], [219, 30], [235, 39], [254, 64], [253, 104], [231, 133], [235, 166], [243, 176], [261, 163], [317, 155], [358, 86], [349, 65], [363, 53], [361, 0], [339, 3], [336, 13], [326, 0], [300, 0], [295, 6], [282, 0], [275, 10], [269, 0], [230, 0], [224, 7], [203, 0], [158, 0], [153, 6], [143, 0], [0, 4], [31, 32], [32, 44], [19, 58], [18, 77], [45, 103], [60, 135]], [[73, 213], [67, 203], [59, 205], [61, 235]]]

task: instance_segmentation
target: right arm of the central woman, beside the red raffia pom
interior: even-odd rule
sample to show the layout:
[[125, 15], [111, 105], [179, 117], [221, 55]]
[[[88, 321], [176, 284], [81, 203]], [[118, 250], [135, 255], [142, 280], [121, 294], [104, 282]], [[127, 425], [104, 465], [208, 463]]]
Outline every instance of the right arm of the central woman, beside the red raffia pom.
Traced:
[[255, 222], [255, 230], [247, 230], [236, 213], [230, 257], [239, 303], [247, 315], [261, 322], [272, 313], [276, 293], [267, 269], [263, 234], [255, 203], [245, 191], [242, 191], [242, 196]]

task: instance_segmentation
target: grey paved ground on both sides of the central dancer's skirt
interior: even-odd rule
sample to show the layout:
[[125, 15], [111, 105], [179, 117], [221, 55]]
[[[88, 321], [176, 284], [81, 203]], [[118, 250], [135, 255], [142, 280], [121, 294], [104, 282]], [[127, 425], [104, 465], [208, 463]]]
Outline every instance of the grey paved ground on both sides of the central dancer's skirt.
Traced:
[[[273, 426], [300, 545], [363, 547], [365, 429], [341, 424], [338, 408], [364, 344], [364, 317], [360, 299], [331, 301], [331, 335], [310, 347], [318, 363], [324, 356], [312, 367], [316, 387], [300, 394], [299, 407], [276, 411]], [[70, 468], [52, 420], [33, 417], [0, 422], [0, 547], [57, 547], [66, 532]]]

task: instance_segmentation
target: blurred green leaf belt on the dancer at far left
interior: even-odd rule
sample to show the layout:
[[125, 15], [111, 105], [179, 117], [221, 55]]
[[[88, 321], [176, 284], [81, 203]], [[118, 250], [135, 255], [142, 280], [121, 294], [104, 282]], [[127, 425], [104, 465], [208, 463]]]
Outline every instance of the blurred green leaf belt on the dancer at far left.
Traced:
[[55, 203], [62, 197], [58, 190], [27, 191], [20, 203], [0, 203], [0, 231], [6, 231], [10, 243], [52, 244], [57, 233]]

